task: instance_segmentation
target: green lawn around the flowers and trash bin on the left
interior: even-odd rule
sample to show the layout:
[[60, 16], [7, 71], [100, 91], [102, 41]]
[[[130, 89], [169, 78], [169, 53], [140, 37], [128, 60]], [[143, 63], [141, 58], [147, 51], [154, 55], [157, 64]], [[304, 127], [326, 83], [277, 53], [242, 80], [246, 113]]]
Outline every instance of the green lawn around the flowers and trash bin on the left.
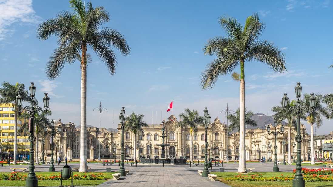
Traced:
[[[9, 174], [10, 172], [0, 172]], [[36, 172], [36, 175], [51, 175], [51, 174], [60, 174], [60, 172]], [[107, 180], [112, 179], [112, 174], [116, 172], [91, 172], [91, 173], [103, 173], [103, 175], [107, 178]], [[19, 174], [27, 175], [28, 173], [20, 172]], [[83, 174], [80, 172], [73, 172], [75, 174]], [[73, 180], [74, 186], [95, 186], [101, 184], [107, 180]], [[71, 180], [63, 180], [63, 186], [69, 186], [71, 184]], [[38, 186], [59, 186], [60, 180], [40, 180], [38, 181]], [[25, 181], [11, 181], [11, 180], [0, 180], [0, 186], [25, 186]]]

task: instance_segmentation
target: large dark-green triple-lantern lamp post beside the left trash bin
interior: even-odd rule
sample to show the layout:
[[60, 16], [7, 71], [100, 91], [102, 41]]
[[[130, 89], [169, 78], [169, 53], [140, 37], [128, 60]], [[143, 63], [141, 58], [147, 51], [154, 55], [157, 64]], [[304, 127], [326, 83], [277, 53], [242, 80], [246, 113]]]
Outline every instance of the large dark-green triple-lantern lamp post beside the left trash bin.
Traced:
[[[30, 99], [35, 100], [36, 86], [34, 86], [33, 82], [29, 86], [29, 91], [30, 91], [30, 96], [29, 96]], [[21, 97], [21, 94], [19, 94], [16, 97], [16, 102], [17, 102], [17, 105], [19, 108], [19, 110], [18, 110], [19, 112], [22, 112], [23, 110], [25, 110], [30, 115], [30, 118], [29, 118], [30, 162], [29, 162], [29, 174], [28, 174], [27, 179], [25, 180], [26, 186], [27, 187], [38, 186], [38, 179], [35, 174], [35, 166], [34, 166], [34, 141], [36, 140], [36, 137], [34, 135], [34, 118], [35, 118], [36, 112], [42, 111], [42, 108], [37, 106], [36, 102], [33, 102], [30, 106], [25, 106], [22, 108], [23, 98]], [[43, 103], [44, 103], [45, 110], [49, 109], [49, 102], [50, 102], [50, 98], [47, 96], [47, 93], [45, 93], [45, 96], [43, 97]]]

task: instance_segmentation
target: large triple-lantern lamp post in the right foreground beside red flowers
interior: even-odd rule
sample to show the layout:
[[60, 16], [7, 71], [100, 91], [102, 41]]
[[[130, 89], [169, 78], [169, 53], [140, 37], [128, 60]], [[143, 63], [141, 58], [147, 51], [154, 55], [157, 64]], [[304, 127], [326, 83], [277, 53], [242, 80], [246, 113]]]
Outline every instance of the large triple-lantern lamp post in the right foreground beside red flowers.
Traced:
[[301, 135], [301, 114], [305, 111], [308, 111], [310, 114], [313, 112], [313, 107], [316, 104], [316, 98], [314, 97], [314, 94], [311, 93], [310, 94], [310, 98], [309, 98], [309, 104], [310, 107], [304, 107], [301, 106], [300, 104], [300, 97], [301, 97], [301, 93], [302, 93], [302, 86], [300, 86], [300, 82], [297, 82], [297, 85], [295, 86], [295, 94], [296, 94], [296, 98], [297, 98], [297, 104], [296, 106], [291, 106], [288, 110], [286, 109], [287, 103], [289, 98], [287, 97], [287, 94], [284, 93], [283, 97], [282, 97], [282, 107], [284, 108], [284, 110], [286, 112], [288, 112], [289, 110], [292, 110], [296, 113], [297, 116], [297, 135], [295, 137], [295, 140], [297, 141], [297, 162], [296, 162], [296, 174], [295, 174], [295, 178], [292, 180], [292, 185], [293, 187], [304, 187], [305, 186], [305, 181], [302, 175], [302, 164], [301, 164], [301, 142], [303, 140], [303, 137]]

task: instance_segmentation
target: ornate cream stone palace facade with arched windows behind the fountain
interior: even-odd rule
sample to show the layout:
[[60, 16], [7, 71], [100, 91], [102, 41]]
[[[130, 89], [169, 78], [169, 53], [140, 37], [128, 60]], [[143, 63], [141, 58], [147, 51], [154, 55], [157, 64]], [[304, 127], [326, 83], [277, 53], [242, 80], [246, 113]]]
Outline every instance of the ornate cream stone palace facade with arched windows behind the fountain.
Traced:
[[[171, 115], [166, 121], [166, 142], [170, 144], [166, 147], [166, 156], [173, 156], [179, 158], [180, 156], [189, 158], [190, 155], [190, 129], [179, 128], [176, 126], [178, 120], [175, 116]], [[55, 144], [58, 144], [57, 153], [54, 156], [65, 157], [68, 159], [79, 159], [80, 156], [80, 129], [76, 129], [73, 123], [63, 124], [59, 119], [55, 123], [55, 127], [61, 127], [62, 132], [60, 135], [55, 136]], [[280, 129], [278, 125], [277, 129]], [[221, 123], [216, 117], [214, 121], [208, 127], [208, 157], [216, 159], [226, 159], [228, 153], [229, 159], [238, 159], [239, 157], [239, 133], [232, 133], [228, 135], [226, 131], [226, 124]], [[100, 153], [102, 159], [120, 159], [121, 150], [121, 125], [118, 125], [118, 132], [109, 132], [106, 128], [87, 128], [87, 158], [97, 159], [100, 144]], [[127, 159], [133, 159], [134, 151], [137, 151], [137, 159], [141, 156], [156, 157], [161, 155], [161, 147], [157, 144], [162, 143], [162, 124], [153, 124], [149, 127], [143, 128], [144, 134], [137, 135], [136, 140], [132, 132], [124, 131], [124, 150], [125, 157]], [[273, 130], [273, 129], [272, 129]], [[301, 158], [303, 160], [308, 159], [308, 146], [307, 142], [309, 136], [306, 134], [305, 126], [301, 125], [301, 137], [303, 139], [301, 147]], [[268, 142], [271, 142], [271, 153], [274, 146], [274, 136], [268, 135], [266, 129], [247, 129], [245, 134], [246, 144], [246, 159], [254, 160], [262, 157], [268, 157], [269, 149]], [[198, 126], [198, 132], [193, 135], [193, 158], [204, 158], [204, 127]], [[291, 128], [291, 140], [294, 141], [296, 137], [296, 131]], [[43, 137], [40, 137], [43, 138]], [[288, 143], [288, 128], [285, 128], [283, 135], [277, 136], [277, 159], [283, 159], [283, 138]], [[41, 140], [41, 139], [40, 139]], [[50, 159], [50, 137], [45, 138], [45, 155], [47, 160]], [[228, 141], [226, 143], [226, 141]], [[134, 144], [137, 143], [136, 150], [134, 150]], [[59, 148], [59, 145], [60, 148]], [[60, 150], [59, 150], [60, 149]], [[291, 149], [293, 149], [291, 147]], [[296, 147], [295, 147], [296, 149]], [[41, 149], [39, 149], [41, 150]], [[285, 145], [285, 157], [288, 160], [288, 144]], [[293, 158], [293, 150], [291, 150], [291, 156]], [[295, 150], [296, 152], [296, 150]], [[39, 152], [41, 156], [41, 151]], [[273, 154], [270, 154], [271, 156]]]

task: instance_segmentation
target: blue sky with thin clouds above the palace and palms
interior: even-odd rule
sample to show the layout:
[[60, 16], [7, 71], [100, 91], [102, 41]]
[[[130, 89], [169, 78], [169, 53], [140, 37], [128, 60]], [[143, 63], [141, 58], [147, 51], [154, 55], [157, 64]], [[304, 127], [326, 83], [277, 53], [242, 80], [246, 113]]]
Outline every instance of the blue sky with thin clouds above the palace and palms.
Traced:
[[[117, 51], [118, 67], [112, 77], [92, 50], [88, 66], [87, 123], [98, 126], [99, 105], [102, 127], [113, 127], [122, 106], [127, 114], [145, 115], [145, 121], [160, 123], [170, 115], [166, 108], [174, 101], [173, 114], [184, 108], [200, 111], [208, 107], [212, 118], [225, 120], [220, 111], [227, 103], [239, 107], [239, 83], [231, 76], [221, 76], [211, 90], [201, 91], [199, 76], [214, 56], [202, 52], [205, 42], [225, 36], [218, 17], [235, 17], [240, 23], [259, 13], [266, 23], [261, 39], [273, 42], [286, 57], [286, 73], [275, 73], [260, 62], [245, 64], [246, 107], [255, 113], [272, 115], [283, 93], [295, 98], [294, 86], [301, 82], [303, 93], [332, 92], [332, 2], [318, 1], [93, 1], [104, 6], [111, 21], [103, 27], [121, 32], [131, 47], [131, 54]], [[66, 65], [61, 76], [48, 80], [45, 65], [57, 47], [57, 39], [39, 41], [36, 28], [42, 21], [70, 10], [68, 1], [0, 1], [0, 80], [12, 84], [35, 82], [37, 96], [48, 92], [52, 119], [80, 124], [80, 64]], [[239, 67], [235, 69], [239, 72]], [[154, 115], [152, 116], [152, 112]], [[156, 117], [156, 112], [158, 116]], [[309, 125], [305, 123], [308, 127]], [[332, 121], [324, 120], [318, 134], [333, 130]]]

